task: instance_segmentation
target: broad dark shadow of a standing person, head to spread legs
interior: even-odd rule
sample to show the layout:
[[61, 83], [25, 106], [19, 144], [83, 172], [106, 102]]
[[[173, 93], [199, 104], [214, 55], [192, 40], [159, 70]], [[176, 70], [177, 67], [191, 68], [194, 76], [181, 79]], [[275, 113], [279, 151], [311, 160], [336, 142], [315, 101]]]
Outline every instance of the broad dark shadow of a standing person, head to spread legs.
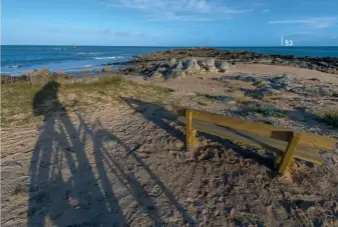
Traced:
[[[44, 124], [29, 168], [28, 226], [128, 226], [112, 190], [115, 199], [107, 200], [98, 187], [85, 152], [88, 136], [72, 123], [59, 87], [49, 81], [33, 100], [33, 113], [44, 116]], [[101, 182], [105, 191], [112, 188]]]

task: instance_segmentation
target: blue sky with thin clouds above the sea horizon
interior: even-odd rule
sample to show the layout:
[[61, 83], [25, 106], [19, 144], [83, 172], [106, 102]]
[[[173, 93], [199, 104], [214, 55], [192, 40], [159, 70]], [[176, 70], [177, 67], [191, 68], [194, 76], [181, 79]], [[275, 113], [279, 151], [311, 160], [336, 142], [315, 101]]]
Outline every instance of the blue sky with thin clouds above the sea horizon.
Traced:
[[2, 0], [2, 44], [338, 45], [338, 0]]

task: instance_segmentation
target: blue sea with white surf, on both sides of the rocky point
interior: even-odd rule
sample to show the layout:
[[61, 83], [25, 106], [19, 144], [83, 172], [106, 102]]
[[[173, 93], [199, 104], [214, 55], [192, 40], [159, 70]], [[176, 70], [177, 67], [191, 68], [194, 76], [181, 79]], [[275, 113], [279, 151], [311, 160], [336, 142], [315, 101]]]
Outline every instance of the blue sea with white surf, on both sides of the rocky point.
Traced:
[[[102, 68], [102, 64], [124, 62], [135, 55], [184, 47], [114, 47], [114, 46], [1, 46], [1, 73], [20, 75], [48, 67], [51, 71], [78, 72]], [[338, 47], [215, 47], [297, 57], [338, 57]]]

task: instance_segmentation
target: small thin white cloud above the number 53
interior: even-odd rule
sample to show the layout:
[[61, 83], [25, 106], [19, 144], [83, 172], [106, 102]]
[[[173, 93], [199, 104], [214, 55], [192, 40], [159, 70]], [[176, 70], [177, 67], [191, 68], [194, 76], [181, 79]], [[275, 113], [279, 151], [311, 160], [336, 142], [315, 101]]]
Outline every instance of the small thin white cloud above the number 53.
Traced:
[[337, 23], [337, 17], [313, 17], [301, 20], [277, 20], [269, 21], [269, 24], [298, 24], [313, 29], [328, 28]]

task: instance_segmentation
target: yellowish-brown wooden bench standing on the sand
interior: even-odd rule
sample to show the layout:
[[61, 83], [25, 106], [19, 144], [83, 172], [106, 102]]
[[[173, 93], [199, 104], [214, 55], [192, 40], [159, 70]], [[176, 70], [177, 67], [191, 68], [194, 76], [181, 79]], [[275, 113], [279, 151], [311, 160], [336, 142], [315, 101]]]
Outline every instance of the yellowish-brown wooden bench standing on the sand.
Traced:
[[195, 109], [173, 106], [172, 112], [178, 116], [179, 122], [186, 125], [186, 146], [189, 150], [195, 148], [196, 132], [205, 132], [276, 152], [275, 163], [279, 166], [279, 173], [285, 173], [294, 158], [322, 165], [318, 149], [332, 151], [337, 143], [337, 140], [324, 136], [279, 129]]

